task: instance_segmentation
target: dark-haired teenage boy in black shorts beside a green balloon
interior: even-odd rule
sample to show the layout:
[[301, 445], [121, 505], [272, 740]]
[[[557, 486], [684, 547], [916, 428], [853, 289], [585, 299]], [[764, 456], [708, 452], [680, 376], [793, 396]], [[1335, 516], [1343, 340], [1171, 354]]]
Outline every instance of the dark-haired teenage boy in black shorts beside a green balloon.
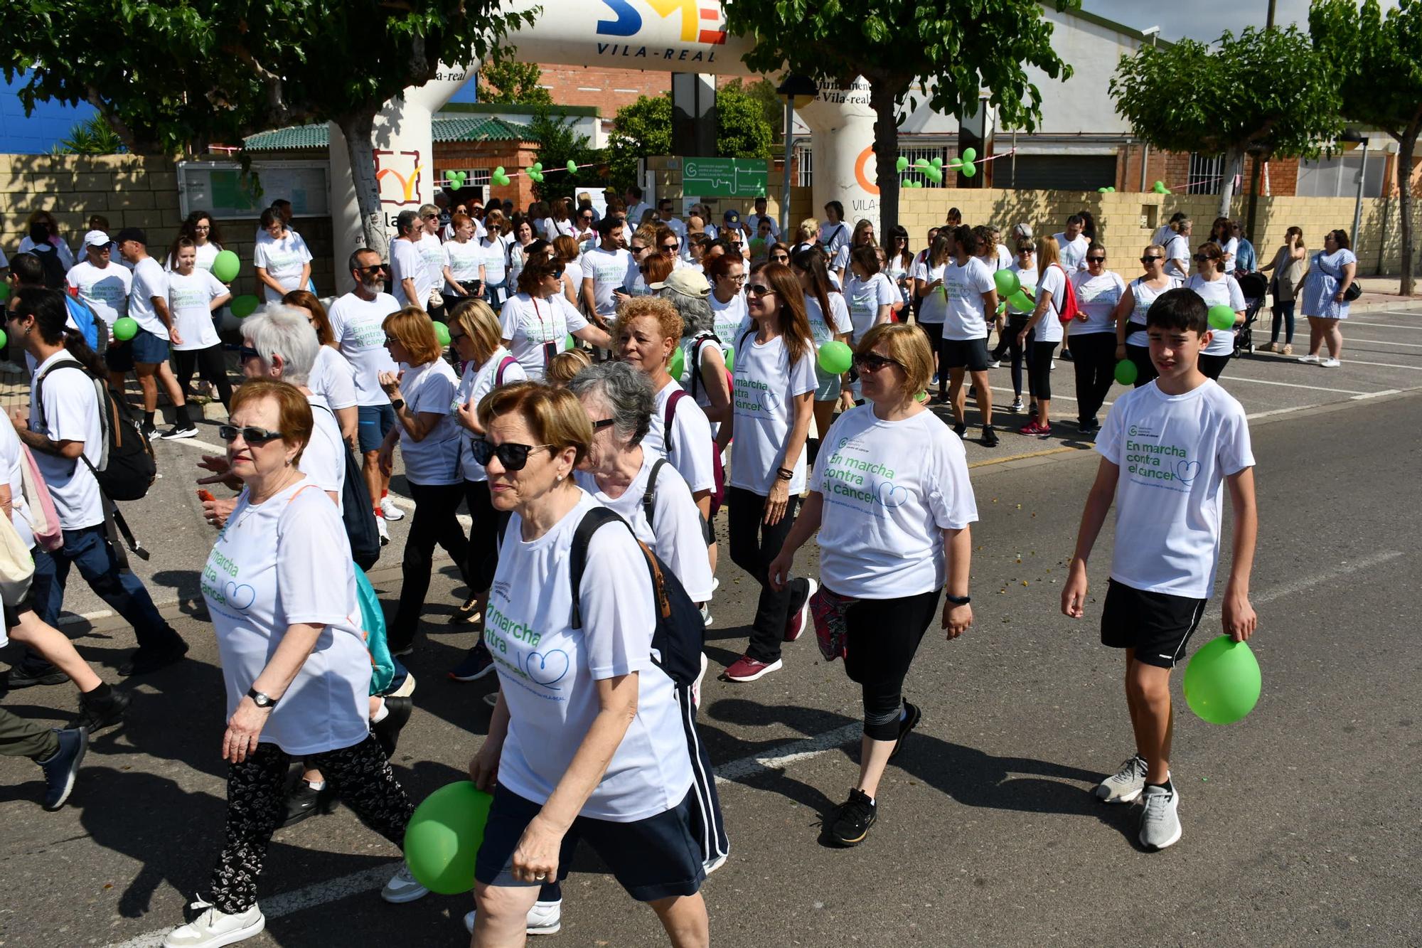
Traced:
[[1214, 585], [1223, 487], [1234, 508], [1230, 578], [1221, 621], [1236, 642], [1254, 632], [1249, 602], [1258, 512], [1244, 409], [1199, 369], [1210, 342], [1207, 307], [1173, 289], [1146, 313], [1150, 362], [1160, 377], [1121, 396], [1096, 438], [1101, 467], [1081, 517], [1062, 612], [1079, 619], [1086, 561], [1112, 500], [1116, 534], [1101, 642], [1126, 651], [1126, 706], [1136, 753], [1096, 787], [1105, 803], [1143, 797], [1140, 844], [1180, 838], [1180, 794], [1170, 781], [1170, 669], [1185, 655]]

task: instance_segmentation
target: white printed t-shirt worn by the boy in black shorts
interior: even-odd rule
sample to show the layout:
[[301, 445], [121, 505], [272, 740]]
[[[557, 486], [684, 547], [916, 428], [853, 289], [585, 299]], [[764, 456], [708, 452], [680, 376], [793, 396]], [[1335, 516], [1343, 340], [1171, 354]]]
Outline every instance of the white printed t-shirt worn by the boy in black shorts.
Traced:
[[1116, 399], [1096, 450], [1121, 468], [1111, 578], [1146, 592], [1209, 598], [1224, 478], [1254, 465], [1240, 403], [1213, 380], [1182, 396], [1152, 381]]

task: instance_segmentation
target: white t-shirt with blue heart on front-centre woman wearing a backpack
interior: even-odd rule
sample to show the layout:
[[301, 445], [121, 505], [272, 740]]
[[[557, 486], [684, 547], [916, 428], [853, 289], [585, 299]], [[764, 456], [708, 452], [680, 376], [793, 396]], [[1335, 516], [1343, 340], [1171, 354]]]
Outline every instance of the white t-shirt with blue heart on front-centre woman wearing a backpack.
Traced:
[[483, 641], [509, 707], [499, 784], [546, 803], [597, 716], [596, 682], [637, 672], [637, 715], [582, 816], [633, 823], [678, 806], [691, 789], [691, 757], [673, 682], [653, 665], [656, 628], [647, 559], [630, 531], [606, 524], [587, 545], [572, 625], [569, 549], [586, 493], [538, 539], [522, 539], [515, 512], [499, 547]]

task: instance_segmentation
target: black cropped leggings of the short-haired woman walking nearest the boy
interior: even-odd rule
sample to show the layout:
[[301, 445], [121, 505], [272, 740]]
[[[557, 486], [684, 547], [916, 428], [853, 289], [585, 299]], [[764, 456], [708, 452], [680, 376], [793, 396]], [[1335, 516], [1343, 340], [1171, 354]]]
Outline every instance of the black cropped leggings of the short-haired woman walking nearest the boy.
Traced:
[[859, 599], [845, 611], [845, 672], [865, 697], [865, 736], [894, 740], [903, 679], [923, 633], [939, 611], [943, 589], [897, 599]]

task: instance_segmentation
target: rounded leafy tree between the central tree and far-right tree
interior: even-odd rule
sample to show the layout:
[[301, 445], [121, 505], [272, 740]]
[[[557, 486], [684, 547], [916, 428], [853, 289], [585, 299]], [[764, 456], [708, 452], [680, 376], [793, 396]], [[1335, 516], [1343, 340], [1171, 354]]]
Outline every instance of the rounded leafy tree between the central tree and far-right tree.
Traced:
[[1325, 63], [1297, 27], [1226, 33], [1214, 46], [1182, 40], [1121, 57], [1116, 112], [1156, 148], [1224, 152], [1220, 216], [1229, 216], [1244, 152], [1315, 155], [1341, 128]]

